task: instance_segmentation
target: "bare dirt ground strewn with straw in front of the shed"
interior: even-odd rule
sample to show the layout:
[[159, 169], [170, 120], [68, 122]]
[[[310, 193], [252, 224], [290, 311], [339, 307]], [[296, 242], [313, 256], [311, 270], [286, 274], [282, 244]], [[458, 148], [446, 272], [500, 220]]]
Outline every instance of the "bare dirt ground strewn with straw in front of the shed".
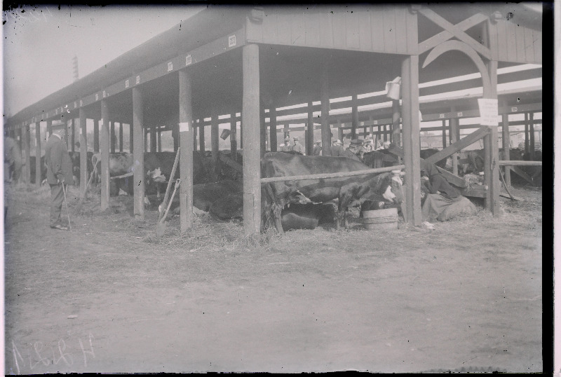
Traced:
[[541, 189], [513, 191], [501, 219], [252, 243], [208, 214], [156, 238], [76, 188], [55, 231], [47, 188], [8, 187], [6, 374], [542, 371]]

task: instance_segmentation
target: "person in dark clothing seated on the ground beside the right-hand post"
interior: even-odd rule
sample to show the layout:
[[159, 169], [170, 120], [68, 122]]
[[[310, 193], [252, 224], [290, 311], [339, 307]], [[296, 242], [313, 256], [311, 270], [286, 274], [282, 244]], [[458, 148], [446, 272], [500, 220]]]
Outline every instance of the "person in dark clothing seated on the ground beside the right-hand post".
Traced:
[[462, 212], [476, 212], [475, 205], [461, 196], [458, 189], [448, 183], [434, 164], [421, 161], [422, 175], [428, 177], [424, 181], [424, 191], [427, 193], [421, 207], [423, 221], [445, 221]]

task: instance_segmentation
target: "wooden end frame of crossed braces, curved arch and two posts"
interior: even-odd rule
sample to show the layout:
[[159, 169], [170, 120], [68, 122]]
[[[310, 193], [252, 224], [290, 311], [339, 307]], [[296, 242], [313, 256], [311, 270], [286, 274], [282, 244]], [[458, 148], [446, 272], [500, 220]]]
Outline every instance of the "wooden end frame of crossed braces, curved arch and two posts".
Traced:
[[[417, 194], [419, 188], [419, 144], [416, 137], [412, 140], [412, 135], [419, 132], [419, 119], [417, 112], [419, 109], [418, 98], [418, 65], [419, 55], [431, 50], [426, 57], [423, 68], [431, 64], [437, 57], [451, 50], [459, 50], [467, 55], [478, 68], [482, 78], [483, 97], [496, 99], [496, 60], [492, 60], [492, 50], [496, 49], [496, 25], [494, 25], [489, 16], [482, 13], [472, 15], [466, 20], [462, 20], [453, 25], [451, 22], [442, 18], [430, 8], [425, 6], [411, 6], [412, 13], [421, 13], [428, 20], [438, 25], [442, 32], [431, 36], [418, 43], [417, 53], [410, 55], [403, 62], [403, 149], [405, 160], [405, 172], [410, 174], [410, 184], [407, 184], [405, 199], [410, 204], [407, 205], [407, 221], [420, 225], [421, 223], [421, 200]], [[496, 18], [496, 15], [494, 15]], [[483, 25], [484, 39], [488, 42], [488, 46], [484, 46], [479, 41], [475, 41], [471, 36], [466, 34], [466, 30], [485, 22]], [[455, 38], [455, 39], [452, 39]], [[451, 40], [452, 39], [452, 40]], [[485, 57], [488, 62], [484, 62], [481, 57]], [[485, 185], [488, 187], [486, 193], [485, 207], [493, 214], [499, 214], [499, 149], [496, 144], [497, 127], [489, 128], [489, 135], [485, 136]]]

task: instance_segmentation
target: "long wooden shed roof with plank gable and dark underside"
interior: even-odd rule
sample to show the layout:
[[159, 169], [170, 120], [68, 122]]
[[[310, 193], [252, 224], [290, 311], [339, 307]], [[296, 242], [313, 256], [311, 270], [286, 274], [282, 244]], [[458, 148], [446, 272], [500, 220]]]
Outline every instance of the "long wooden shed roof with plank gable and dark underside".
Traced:
[[[509, 11], [513, 6], [512, 12]], [[501, 17], [496, 16], [499, 48], [492, 50], [493, 57], [503, 62], [502, 65], [541, 62], [541, 15], [518, 4], [513, 6], [454, 4], [431, 5], [429, 9], [454, 25], [472, 16], [475, 20], [482, 16], [488, 18], [499, 11]], [[514, 16], [506, 20], [508, 13]], [[518, 22], [514, 29], [513, 22]], [[481, 34], [481, 27], [479, 23], [468, 28], [466, 34], [475, 38]], [[96, 109], [105, 95], [110, 97], [111, 118], [129, 121], [130, 88], [136, 85], [135, 77], [140, 76], [146, 97], [147, 125], [175, 123], [177, 70], [187, 64], [187, 53], [193, 55], [196, 116], [210, 116], [213, 108], [240, 111], [243, 78], [238, 47], [251, 42], [261, 44], [260, 84], [265, 104], [273, 101], [276, 106], [283, 106], [319, 100], [320, 67], [326, 63], [330, 97], [383, 90], [386, 81], [400, 76], [403, 55], [417, 53], [419, 43], [439, 33], [442, 34], [442, 27], [402, 5], [265, 6], [262, 10], [245, 6], [209, 7], [23, 109], [8, 123], [32, 123], [46, 113], [46, 118], [53, 118], [62, 114], [65, 106], [71, 111], [86, 107], [93, 114], [99, 112]], [[231, 35], [237, 38], [235, 46], [228, 44]], [[421, 53], [421, 63], [427, 54], [428, 51]], [[477, 71], [458, 51], [443, 56], [424, 69], [419, 67], [420, 82]], [[169, 69], [170, 63], [173, 69]]]

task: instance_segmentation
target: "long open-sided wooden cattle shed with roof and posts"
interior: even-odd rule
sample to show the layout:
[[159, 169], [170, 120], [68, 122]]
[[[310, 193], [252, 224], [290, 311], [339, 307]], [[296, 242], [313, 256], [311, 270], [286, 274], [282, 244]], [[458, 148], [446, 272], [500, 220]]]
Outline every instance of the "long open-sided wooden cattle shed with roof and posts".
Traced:
[[[99, 122], [103, 210], [109, 205], [110, 124], [132, 125], [137, 217], [144, 215], [144, 135], [173, 130], [182, 151], [180, 219], [185, 232], [193, 221], [193, 187], [188, 177], [192, 177], [194, 131], [202, 125], [196, 120], [212, 118], [212, 152], [217, 159], [217, 117], [241, 112], [243, 219], [245, 234], [251, 235], [259, 232], [261, 220], [259, 161], [265, 151], [264, 130], [276, 128], [276, 109], [308, 102], [317, 110], [311, 104], [320, 100], [323, 153], [327, 155], [333, 123], [330, 98], [353, 97], [354, 132], [361, 119], [393, 115], [391, 109], [361, 114], [357, 94], [400, 76], [401, 119], [394, 119], [394, 124], [401, 125], [407, 221], [419, 225], [419, 82], [480, 73], [482, 97], [497, 99], [497, 69], [541, 64], [541, 59], [541, 13], [518, 4], [214, 6], [20, 111], [4, 128], [21, 130], [22, 139], [28, 141], [29, 126], [34, 124], [36, 156], [41, 156], [39, 122], [46, 121], [49, 128], [53, 121], [78, 119], [83, 192], [88, 181], [86, 118]], [[541, 103], [541, 91], [499, 98], [499, 106], [507, 109], [522, 110], [535, 102]], [[473, 98], [431, 106], [433, 112], [478, 115]], [[310, 123], [312, 130], [313, 119]], [[485, 198], [493, 213], [498, 209], [500, 188], [497, 129], [484, 127], [468, 136], [485, 140]], [[276, 132], [270, 135], [274, 151]], [[306, 143], [310, 141], [309, 137]], [[439, 157], [457, 151], [454, 145]], [[23, 149], [29, 160], [29, 142]]]

